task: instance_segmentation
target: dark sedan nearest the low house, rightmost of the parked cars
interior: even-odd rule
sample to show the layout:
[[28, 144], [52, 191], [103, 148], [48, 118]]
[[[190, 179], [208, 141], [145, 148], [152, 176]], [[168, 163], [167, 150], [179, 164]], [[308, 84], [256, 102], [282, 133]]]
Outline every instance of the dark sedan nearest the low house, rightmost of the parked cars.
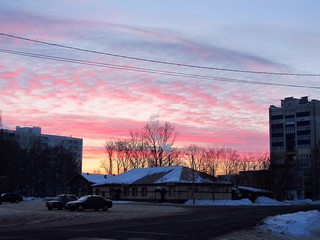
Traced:
[[112, 201], [100, 195], [86, 195], [77, 201], [68, 202], [66, 207], [70, 211], [83, 211], [85, 209], [94, 209], [95, 211], [102, 209], [103, 211], [107, 211], [109, 208], [112, 208]]

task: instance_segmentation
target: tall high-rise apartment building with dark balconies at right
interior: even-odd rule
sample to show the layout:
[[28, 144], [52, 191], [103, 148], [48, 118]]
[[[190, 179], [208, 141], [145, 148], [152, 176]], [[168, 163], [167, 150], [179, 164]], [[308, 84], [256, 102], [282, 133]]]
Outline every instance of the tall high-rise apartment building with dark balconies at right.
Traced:
[[288, 97], [269, 108], [271, 169], [279, 188], [320, 199], [320, 101]]

